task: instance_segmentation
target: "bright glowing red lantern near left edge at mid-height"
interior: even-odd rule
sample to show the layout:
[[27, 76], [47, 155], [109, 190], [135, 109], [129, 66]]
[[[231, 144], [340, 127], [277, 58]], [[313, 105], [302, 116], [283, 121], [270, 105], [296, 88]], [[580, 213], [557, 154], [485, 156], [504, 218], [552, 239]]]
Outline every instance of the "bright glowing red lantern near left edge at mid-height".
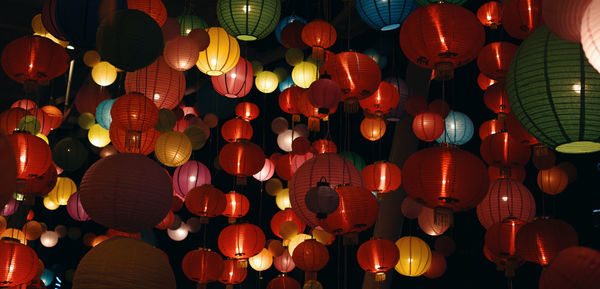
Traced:
[[28, 133], [19, 133], [9, 135], [8, 141], [17, 163], [17, 178], [41, 176], [52, 164], [50, 147], [42, 139]]

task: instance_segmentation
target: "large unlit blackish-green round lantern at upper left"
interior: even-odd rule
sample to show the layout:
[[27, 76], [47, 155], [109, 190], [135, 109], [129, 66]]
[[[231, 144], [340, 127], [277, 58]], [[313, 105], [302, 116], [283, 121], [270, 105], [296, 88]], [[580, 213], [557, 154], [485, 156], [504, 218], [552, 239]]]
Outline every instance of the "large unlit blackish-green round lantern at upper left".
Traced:
[[96, 47], [102, 59], [125, 71], [135, 71], [162, 54], [162, 31], [142, 11], [117, 10], [98, 27]]

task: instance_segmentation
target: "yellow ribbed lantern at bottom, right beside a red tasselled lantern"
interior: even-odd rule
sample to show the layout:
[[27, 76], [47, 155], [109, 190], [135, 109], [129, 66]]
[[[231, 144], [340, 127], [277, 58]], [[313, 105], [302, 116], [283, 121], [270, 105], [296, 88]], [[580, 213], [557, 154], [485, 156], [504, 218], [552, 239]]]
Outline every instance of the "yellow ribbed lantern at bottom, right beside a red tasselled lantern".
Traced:
[[431, 265], [431, 249], [429, 245], [417, 237], [402, 237], [396, 241], [400, 259], [396, 264], [398, 273], [416, 277], [427, 272]]

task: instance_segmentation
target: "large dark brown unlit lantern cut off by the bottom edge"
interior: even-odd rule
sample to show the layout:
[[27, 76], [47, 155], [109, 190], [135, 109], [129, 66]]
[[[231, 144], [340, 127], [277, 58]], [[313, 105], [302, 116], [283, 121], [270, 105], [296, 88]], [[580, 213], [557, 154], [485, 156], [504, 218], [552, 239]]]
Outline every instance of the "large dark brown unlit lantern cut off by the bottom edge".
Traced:
[[92, 248], [81, 259], [74, 289], [111, 288], [135, 284], [140, 288], [174, 289], [175, 276], [165, 253], [144, 241], [113, 237]]

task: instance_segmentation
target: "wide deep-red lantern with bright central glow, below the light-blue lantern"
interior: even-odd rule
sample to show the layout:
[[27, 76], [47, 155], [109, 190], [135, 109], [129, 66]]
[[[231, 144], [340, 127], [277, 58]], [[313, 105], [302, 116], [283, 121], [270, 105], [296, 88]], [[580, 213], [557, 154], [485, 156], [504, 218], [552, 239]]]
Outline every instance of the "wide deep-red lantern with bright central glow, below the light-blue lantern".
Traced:
[[449, 208], [455, 212], [479, 204], [489, 186], [483, 162], [452, 146], [413, 153], [402, 167], [402, 183], [413, 199], [436, 211]]

